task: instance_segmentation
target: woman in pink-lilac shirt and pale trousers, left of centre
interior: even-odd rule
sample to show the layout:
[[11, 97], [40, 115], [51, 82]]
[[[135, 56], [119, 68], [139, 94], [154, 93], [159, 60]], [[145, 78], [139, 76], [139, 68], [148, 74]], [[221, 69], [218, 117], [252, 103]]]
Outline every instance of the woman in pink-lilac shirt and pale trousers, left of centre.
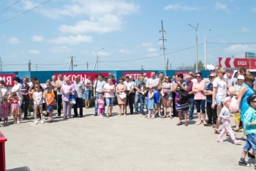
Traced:
[[61, 86], [61, 93], [62, 93], [62, 105], [63, 105], [63, 119], [71, 118], [71, 108], [72, 105], [69, 102], [69, 94], [75, 92], [74, 85], [70, 83], [69, 77], [65, 78], [65, 83]]

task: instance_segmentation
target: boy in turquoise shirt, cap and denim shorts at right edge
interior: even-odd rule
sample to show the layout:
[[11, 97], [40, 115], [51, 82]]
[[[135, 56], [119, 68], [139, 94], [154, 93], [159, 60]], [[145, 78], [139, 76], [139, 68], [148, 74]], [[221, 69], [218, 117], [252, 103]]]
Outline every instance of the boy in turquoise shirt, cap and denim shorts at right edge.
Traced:
[[[246, 142], [244, 149], [241, 154], [241, 159], [238, 164], [244, 167], [250, 167], [251, 164], [245, 161], [245, 156], [248, 151], [253, 148], [256, 153], [256, 95], [253, 94], [248, 97], [247, 102], [249, 104], [249, 109], [244, 113], [244, 131], [246, 134]], [[256, 156], [256, 155], [255, 155]], [[256, 169], [256, 161], [255, 161]]]

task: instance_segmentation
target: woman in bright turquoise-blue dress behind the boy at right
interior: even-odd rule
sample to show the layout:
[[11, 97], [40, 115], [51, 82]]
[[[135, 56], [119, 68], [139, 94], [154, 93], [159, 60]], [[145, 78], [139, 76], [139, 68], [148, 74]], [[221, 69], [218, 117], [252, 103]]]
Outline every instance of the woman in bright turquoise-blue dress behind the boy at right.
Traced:
[[[247, 102], [248, 96], [255, 94], [252, 88], [252, 83], [255, 81], [253, 75], [246, 75], [244, 78], [244, 83], [242, 84], [239, 94], [237, 104], [240, 108], [241, 121], [244, 122], [244, 113], [249, 109], [249, 104]], [[242, 137], [242, 140], [246, 140], [246, 135]]]

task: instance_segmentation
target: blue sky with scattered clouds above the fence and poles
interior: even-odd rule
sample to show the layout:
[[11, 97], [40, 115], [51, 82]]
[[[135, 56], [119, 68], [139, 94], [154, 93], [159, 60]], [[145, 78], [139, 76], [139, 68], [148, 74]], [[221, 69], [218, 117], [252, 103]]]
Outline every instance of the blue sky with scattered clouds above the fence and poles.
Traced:
[[[16, 1], [0, 1], [0, 9]], [[120, 70], [141, 65], [163, 69], [161, 20], [172, 69], [195, 63], [195, 30], [188, 24], [199, 23], [198, 60], [203, 63], [208, 29], [208, 64], [216, 65], [218, 57], [244, 58], [245, 52], [256, 52], [256, 45], [249, 44], [256, 42], [256, 1], [51, 0], [26, 12], [45, 1], [20, 0], [0, 11], [3, 71], [27, 71], [29, 60], [31, 70], [36, 64], [38, 70], [67, 70], [70, 56], [78, 65], [75, 70], [86, 70], [87, 62], [93, 69], [97, 53], [101, 70], [116, 69], [116, 64]]]

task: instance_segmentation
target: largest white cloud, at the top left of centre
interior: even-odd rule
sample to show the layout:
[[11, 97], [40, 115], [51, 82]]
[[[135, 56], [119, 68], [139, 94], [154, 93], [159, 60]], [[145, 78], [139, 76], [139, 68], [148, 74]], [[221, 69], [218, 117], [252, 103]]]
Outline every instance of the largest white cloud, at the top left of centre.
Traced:
[[[107, 33], [111, 31], [121, 31], [123, 19], [126, 15], [132, 15], [138, 12], [140, 7], [126, 0], [72, 0], [72, 4], [66, 4], [59, 8], [37, 9], [45, 17], [59, 19], [64, 17], [76, 17], [80, 15], [82, 18], [75, 25], [61, 25], [59, 30], [62, 33], [85, 34], [88, 32]], [[30, 1], [23, 3], [24, 8], [34, 7]]]

